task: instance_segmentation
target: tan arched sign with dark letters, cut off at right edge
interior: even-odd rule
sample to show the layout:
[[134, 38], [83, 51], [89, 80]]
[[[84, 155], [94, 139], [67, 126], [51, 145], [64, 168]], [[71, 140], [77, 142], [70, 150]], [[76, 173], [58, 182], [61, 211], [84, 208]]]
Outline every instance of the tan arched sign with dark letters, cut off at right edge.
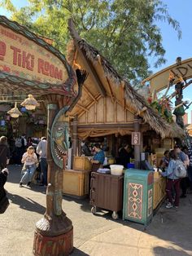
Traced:
[[163, 90], [168, 86], [168, 77], [170, 72], [174, 74], [175, 81], [180, 81], [180, 77], [188, 79], [192, 77], [192, 59], [181, 61], [179, 64], [173, 64], [168, 68], [164, 68], [158, 73], [153, 74], [151, 77], [147, 77], [143, 82], [150, 82], [151, 91]]

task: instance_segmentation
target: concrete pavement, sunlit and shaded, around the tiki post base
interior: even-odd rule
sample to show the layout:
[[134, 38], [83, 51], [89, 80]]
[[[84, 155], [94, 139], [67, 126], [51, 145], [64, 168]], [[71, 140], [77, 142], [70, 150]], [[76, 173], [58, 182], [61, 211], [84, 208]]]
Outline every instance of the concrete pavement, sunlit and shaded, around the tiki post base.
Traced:
[[[35, 223], [45, 213], [46, 188], [19, 188], [20, 167], [10, 166], [6, 189], [11, 205], [0, 215], [0, 255], [32, 256]], [[162, 205], [146, 230], [142, 224], [115, 221], [111, 213], [90, 213], [88, 199], [63, 197], [63, 210], [72, 220], [75, 255], [138, 256], [192, 255], [192, 195], [180, 208]]]

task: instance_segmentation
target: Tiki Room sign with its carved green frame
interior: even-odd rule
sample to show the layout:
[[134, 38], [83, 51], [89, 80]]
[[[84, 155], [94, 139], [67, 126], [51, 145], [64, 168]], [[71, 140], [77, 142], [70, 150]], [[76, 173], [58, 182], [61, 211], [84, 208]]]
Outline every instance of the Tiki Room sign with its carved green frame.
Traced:
[[72, 94], [75, 76], [65, 57], [26, 28], [0, 15], [0, 81]]

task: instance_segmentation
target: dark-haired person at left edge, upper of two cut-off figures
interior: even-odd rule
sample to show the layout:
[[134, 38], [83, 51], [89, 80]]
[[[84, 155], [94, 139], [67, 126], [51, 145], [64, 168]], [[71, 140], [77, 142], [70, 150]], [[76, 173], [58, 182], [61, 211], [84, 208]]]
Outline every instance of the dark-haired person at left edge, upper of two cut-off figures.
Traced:
[[0, 169], [4, 169], [7, 167], [7, 164], [10, 160], [10, 150], [7, 145], [7, 137], [0, 137]]

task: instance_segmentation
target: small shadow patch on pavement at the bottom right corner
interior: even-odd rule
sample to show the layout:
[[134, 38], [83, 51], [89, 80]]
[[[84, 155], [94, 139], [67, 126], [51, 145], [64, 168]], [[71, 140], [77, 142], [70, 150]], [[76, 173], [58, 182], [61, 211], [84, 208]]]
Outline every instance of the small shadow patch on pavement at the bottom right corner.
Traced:
[[157, 246], [154, 249], [154, 254], [155, 256], [162, 256], [162, 255], [166, 255], [166, 256], [187, 256], [187, 255], [191, 255], [191, 254], [187, 254], [185, 251], [183, 250], [179, 250], [179, 249], [175, 249], [175, 248], [164, 248], [161, 246]]

